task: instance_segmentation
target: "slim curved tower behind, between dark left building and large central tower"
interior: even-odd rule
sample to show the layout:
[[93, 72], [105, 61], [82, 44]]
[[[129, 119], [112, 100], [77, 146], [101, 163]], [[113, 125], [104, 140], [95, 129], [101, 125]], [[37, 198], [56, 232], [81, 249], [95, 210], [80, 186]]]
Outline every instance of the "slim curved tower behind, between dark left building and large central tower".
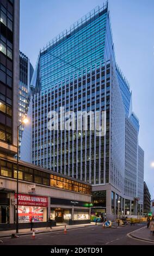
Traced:
[[[33, 66], [30, 63], [29, 58], [19, 52], [19, 123], [22, 122], [23, 118], [27, 117], [28, 106], [30, 102], [30, 81], [33, 76]], [[20, 145], [22, 139], [24, 125], [19, 128], [19, 157], [20, 157]]]

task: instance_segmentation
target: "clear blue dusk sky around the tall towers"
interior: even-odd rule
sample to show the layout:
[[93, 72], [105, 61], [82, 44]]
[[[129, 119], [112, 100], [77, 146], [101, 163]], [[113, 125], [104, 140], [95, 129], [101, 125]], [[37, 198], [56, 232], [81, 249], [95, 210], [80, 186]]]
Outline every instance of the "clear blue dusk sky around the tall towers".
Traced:
[[[20, 50], [35, 67], [40, 48], [103, 0], [21, 0]], [[154, 1], [109, 0], [116, 62], [132, 89], [145, 151], [144, 180], [154, 198]]]

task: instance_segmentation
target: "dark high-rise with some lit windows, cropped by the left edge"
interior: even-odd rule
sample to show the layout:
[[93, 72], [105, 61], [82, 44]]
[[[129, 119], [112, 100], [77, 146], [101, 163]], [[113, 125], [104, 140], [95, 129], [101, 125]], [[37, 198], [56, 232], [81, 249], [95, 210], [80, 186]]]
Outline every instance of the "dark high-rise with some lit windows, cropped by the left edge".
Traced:
[[19, 1], [1, 0], [0, 152], [17, 153]]

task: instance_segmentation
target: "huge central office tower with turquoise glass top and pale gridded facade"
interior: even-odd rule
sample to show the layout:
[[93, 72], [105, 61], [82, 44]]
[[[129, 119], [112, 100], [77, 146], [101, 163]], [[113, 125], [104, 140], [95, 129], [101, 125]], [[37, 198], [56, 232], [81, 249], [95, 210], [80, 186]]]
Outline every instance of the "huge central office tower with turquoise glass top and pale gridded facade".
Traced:
[[[116, 65], [108, 4], [85, 15], [41, 50], [34, 77], [29, 161], [90, 182], [93, 214], [114, 218], [118, 210], [125, 215], [137, 215], [137, 209], [141, 213], [139, 120], [132, 111], [128, 82]], [[105, 111], [106, 134], [91, 131], [90, 120], [84, 131], [50, 131], [48, 112], [56, 111], [59, 117], [60, 107], [64, 113]], [[27, 136], [23, 137], [24, 143]]]

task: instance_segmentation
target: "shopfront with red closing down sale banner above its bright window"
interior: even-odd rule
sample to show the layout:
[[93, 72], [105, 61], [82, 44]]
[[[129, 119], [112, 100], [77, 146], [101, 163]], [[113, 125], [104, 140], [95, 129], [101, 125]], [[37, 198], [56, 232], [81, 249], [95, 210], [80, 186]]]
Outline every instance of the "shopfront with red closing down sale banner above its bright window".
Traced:
[[[16, 199], [16, 194], [15, 194]], [[48, 197], [18, 194], [19, 223], [46, 222]]]

